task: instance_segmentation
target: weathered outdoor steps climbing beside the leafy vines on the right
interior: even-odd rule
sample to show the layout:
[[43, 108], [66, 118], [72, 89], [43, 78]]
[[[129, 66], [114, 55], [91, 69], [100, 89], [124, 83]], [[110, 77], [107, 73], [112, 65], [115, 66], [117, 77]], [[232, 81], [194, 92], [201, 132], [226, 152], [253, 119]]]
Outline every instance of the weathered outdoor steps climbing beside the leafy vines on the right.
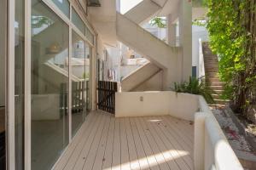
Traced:
[[228, 101], [220, 99], [220, 95], [224, 91], [224, 82], [220, 82], [218, 77], [218, 56], [212, 54], [208, 42], [202, 43], [202, 50], [204, 55], [204, 65], [206, 72], [206, 82], [209, 88], [215, 92], [212, 97], [216, 105], [226, 105]]

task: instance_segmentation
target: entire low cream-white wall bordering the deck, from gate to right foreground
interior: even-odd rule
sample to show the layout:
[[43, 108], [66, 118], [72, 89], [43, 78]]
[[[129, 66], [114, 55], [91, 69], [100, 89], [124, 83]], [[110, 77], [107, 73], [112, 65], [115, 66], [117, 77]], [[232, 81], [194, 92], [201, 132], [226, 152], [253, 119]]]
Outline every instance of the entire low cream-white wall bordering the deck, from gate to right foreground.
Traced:
[[169, 91], [124, 92], [116, 94], [115, 105], [116, 117], [171, 115], [195, 121], [196, 170], [243, 169], [203, 97]]

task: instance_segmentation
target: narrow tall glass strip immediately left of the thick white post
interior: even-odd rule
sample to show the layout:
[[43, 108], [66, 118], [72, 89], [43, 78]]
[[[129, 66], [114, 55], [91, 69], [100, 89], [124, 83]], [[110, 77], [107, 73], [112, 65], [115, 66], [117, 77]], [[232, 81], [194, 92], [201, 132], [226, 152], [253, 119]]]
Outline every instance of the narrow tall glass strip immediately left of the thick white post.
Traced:
[[15, 0], [15, 163], [24, 169], [24, 0]]

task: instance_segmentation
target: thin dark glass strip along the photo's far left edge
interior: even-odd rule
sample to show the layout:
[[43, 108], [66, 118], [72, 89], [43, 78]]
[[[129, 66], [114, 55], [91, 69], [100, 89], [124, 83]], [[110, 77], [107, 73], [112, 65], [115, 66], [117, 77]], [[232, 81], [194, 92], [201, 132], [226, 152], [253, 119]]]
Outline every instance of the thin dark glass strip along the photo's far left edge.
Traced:
[[5, 76], [7, 48], [7, 1], [0, 1], [0, 169], [6, 168]]

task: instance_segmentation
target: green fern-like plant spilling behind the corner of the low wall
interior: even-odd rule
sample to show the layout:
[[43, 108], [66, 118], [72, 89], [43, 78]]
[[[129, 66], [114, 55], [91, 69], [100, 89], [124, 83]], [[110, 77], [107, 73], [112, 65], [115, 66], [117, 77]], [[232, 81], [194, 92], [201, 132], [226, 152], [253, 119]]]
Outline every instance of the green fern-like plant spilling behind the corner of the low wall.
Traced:
[[189, 77], [189, 82], [174, 82], [174, 91], [177, 93], [199, 94], [207, 100], [207, 103], [214, 103], [212, 98], [214, 92], [207, 87], [204, 79]]

